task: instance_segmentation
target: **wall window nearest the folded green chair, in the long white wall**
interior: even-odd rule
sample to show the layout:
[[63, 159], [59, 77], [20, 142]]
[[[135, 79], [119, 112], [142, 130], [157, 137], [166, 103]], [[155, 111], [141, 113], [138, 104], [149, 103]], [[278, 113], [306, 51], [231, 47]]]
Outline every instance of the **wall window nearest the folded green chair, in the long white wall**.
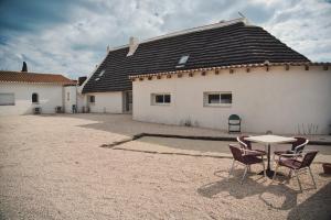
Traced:
[[228, 107], [232, 105], [232, 92], [204, 92], [204, 106]]

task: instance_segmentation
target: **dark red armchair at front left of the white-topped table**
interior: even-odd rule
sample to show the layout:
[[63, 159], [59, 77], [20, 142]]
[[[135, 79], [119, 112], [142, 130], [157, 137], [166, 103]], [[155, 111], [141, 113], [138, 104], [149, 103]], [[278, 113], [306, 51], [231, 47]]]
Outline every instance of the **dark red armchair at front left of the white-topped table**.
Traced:
[[253, 165], [253, 164], [261, 164], [263, 167], [264, 167], [264, 175], [266, 176], [266, 169], [265, 169], [265, 163], [264, 163], [264, 156], [263, 155], [258, 155], [258, 156], [257, 155], [249, 155], [247, 153], [254, 152], [254, 151], [244, 150], [244, 148], [237, 147], [236, 145], [233, 145], [233, 144], [229, 144], [228, 146], [229, 146], [231, 153], [233, 155], [233, 162], [232, 162], [231, 169], [228, 172], [228, 177], [233, 173], [235, 162], [239, 162], [239, 164], [245, 166], [245, 172], [244, 172], [244, 175], [242, 177], [241, 184], [243, 184], [243, 182], [246, 177], [247, 170], [249, 169], [249, 166]]

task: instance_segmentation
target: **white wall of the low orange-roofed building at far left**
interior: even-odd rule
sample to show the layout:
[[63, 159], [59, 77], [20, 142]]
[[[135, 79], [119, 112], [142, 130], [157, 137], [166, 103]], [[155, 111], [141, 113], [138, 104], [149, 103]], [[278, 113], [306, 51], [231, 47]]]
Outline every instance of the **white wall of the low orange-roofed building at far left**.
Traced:
[[[14, 94], [14, 106], [0, 106], [0, 116], [30, 114], [34, 107], [42, 113], [54, 113], [55, 107], [63, 106], [62, 86], [45, 84], [0, 82], [0, 94]], [[32, 103], [32, 94], [39, 95], [39, 105]]]

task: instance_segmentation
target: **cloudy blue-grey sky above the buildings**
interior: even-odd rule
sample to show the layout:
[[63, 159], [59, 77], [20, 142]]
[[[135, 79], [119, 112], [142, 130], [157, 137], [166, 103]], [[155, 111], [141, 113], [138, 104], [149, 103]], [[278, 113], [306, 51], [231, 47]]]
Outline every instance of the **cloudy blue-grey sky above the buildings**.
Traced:
[[0, 69], [89, 75], [106, 48], [243, 13], [312, 62], [331, 62], [331, 0], [0, 0]]

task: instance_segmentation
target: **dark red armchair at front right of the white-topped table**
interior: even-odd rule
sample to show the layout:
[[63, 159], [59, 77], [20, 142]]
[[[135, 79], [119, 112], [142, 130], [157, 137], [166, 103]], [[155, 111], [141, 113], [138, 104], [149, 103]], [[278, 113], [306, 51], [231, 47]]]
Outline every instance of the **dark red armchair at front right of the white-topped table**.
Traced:
[[[278, 169], [279, 166], [288, 167], [290, 169], [289, 177], [291, 176], [291, 172], [293, 172], [296, 177], [297, 177], [297, 180], [298, 180], [298, 184], [299, 184], [299, 187], [300, 187], [300, 191], [302, 191], [301, 183], [300, 183], [300, 179], [299, 179], [299, 170], [308, 169], [309, 174], [311, 176], [312, 183], [314, 185], [314, 188], [317, 188], [316, 182], [313, 179], [313, 176], [312, 176], [312, 173], [311, 173], [311, 169], [310, 169], [310, 165], [311, 165], [311, 163], [312, 163], [312, 161], [313, 161], [313, 158], [316, 157], [317, 154], [318, 154], [318, 151], [310, 151], [310, 152], [306, 153], [302, 161], [298, 160], [298, 154], [281, 154], [279, 156], [279, 160], [277, 161], [277, 166], [276, 166], [276, 169], [275, 169], [273, 180], [275, 179], [275, 177], [277, 175], [277, 169]], [[301, 154], [299, 154], [299, 155], [301, 155]]]

